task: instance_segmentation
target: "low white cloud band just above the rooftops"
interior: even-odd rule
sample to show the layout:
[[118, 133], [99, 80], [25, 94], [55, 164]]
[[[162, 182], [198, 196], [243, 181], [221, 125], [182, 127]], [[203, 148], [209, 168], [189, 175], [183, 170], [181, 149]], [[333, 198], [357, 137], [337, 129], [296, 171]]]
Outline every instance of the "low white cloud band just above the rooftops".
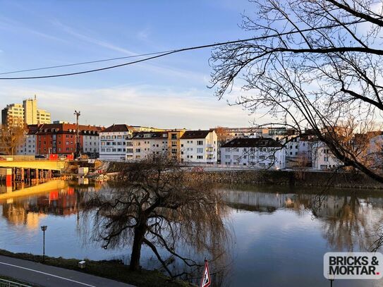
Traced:
[[[22, 102], [37, 94], [38, 106], [51, 112], [53, 120], [74, 121], [81, 111], [86, 124], [108, 126], [128, 123], [159, 128], [212, 128], [250, 126], [253, 116], [240, 106], [217, 101], [210, 90], [184, 90], [138, 86], [109, 89], [62, 87], [0, 87], [0, 102]], [[267, 120], [265, 120], [267, 122]]]

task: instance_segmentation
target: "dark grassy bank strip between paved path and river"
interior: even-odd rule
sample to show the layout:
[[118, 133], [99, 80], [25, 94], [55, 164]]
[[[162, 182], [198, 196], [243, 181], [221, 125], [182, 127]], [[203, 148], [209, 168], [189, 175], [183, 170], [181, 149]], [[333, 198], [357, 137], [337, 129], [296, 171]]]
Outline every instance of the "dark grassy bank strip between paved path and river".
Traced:
[[[14, 257], [18, 259], [29, 260], [42, 263], [41, 255], [32, 255], [29, 253], [13, 253], [6, 250], [0, 250], [0, 255]], [[140, 271], [130, 271], [127, 265], [119, 260], [111, 261], [92, 261], [86, 260], [86, 267], [80, 269], [78, 262], [80, 259], [65, 259], [62, 257], [45, 257], [44, 264], [72, 269], [87, 274], [92, 274], [124, 283], [129, 283], [138, 287], [191, 287], [190, 283], [180, 280], [171, 280], [159, 271], [150, 271], [142, 269]]]

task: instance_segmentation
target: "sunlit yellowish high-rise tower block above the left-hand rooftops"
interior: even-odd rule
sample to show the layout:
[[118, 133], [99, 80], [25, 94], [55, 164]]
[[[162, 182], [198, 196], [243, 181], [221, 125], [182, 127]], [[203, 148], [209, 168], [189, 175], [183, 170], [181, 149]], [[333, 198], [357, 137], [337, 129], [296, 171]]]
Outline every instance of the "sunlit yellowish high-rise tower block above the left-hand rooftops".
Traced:
[[37, 109], [35, 96], [33, 99], [24, 99], [23, 104], [8, 104], [1, 111], [1, 123], [6, 126], [51, 123], [51, 114], [45, 110]]

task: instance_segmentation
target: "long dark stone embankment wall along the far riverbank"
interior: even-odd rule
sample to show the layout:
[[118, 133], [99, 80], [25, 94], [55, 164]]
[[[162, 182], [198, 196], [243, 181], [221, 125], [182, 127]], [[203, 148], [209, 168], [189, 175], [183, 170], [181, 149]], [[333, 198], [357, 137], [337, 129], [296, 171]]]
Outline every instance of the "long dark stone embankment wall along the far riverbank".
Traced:
[[334, 188], [383, 189], [382, 183], [363, 173], [317, 171], [207, 171], [190, 173], [193, 180], [209, 179], [216, 183], [254, 183], [270, 185], [331, 186]]

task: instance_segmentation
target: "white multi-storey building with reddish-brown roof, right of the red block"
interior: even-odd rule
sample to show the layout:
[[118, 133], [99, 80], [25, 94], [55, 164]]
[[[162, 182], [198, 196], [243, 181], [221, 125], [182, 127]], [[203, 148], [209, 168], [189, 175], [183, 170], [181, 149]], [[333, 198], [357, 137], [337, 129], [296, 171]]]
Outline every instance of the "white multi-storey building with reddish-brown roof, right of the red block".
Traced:
[[133, 128], [126, 124], [113, 124], [99, 133], [99, 159], [126, 159], [126, 139]]

